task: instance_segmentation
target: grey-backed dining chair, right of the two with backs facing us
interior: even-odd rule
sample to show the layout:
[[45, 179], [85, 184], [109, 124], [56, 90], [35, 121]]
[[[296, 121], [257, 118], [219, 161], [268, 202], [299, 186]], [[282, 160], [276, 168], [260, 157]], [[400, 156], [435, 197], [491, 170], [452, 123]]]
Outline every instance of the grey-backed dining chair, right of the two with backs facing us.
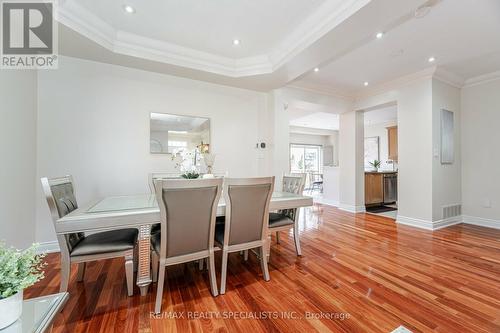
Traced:
[[273, 188], [274, 177], [224, 180], [226, 219], [224, 224], [218, 224], [215, 228], [215, 241], [222, 247], [221, 294], [226, 292], [227, 261], [232, 252], [260, 248], [264, 280], [270, 279], [266, 245]]

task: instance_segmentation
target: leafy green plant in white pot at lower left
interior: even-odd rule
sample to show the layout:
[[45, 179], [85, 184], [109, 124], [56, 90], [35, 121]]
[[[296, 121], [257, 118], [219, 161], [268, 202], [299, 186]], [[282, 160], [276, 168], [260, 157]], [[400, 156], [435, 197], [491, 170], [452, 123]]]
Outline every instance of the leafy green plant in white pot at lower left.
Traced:
[[21, 316], [23, 290], [44, 278], [44, 254], [37, 245], [20, 251], [0, 243], [0, 330]]

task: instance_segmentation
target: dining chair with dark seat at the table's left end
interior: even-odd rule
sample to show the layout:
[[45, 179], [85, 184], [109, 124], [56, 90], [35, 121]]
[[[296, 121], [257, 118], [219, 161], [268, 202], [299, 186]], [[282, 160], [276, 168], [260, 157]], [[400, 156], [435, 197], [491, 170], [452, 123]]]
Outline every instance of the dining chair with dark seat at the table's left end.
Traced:
[[[73, 178], [42, 178], [42, 188], [47, 199], [52, 222], [78, 208]], [[61, 251], [61, 285], [60, 291], [68, 289], [71, 264], [78, 264], [77, 280], [83, 281], [87, 262], [124, 257], [127, 292], [133, 294], [134, 248], [137, 243], [137, 229], [120, 229], [85, 235], [83, 232], [57, 235]]]

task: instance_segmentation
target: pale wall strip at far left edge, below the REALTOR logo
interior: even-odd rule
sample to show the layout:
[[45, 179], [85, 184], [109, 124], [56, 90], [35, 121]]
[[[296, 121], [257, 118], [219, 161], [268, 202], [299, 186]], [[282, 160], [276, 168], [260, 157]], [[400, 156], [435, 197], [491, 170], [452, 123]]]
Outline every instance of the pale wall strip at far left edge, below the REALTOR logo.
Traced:
[[36, 72], [0, 71], [0, 241], [35, 240]]

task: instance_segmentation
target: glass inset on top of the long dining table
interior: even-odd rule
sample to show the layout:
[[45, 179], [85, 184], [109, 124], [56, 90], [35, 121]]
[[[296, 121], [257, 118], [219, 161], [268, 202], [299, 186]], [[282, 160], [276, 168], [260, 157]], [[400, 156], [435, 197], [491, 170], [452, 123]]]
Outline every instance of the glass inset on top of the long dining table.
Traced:
[[[288, 193], [273, 192], [271, 201], [281, 201], [292, 198], [302, 198], [304, 196]], [[221, 196], [219, 206], [224, 206], [224, 198]], [[138, 209], [157, 209], [156, 197], [154, 194], [128, 195], [107, 197], [91, 206], [87, 213], [104, 213], [114, 211], [138, 210]]]

